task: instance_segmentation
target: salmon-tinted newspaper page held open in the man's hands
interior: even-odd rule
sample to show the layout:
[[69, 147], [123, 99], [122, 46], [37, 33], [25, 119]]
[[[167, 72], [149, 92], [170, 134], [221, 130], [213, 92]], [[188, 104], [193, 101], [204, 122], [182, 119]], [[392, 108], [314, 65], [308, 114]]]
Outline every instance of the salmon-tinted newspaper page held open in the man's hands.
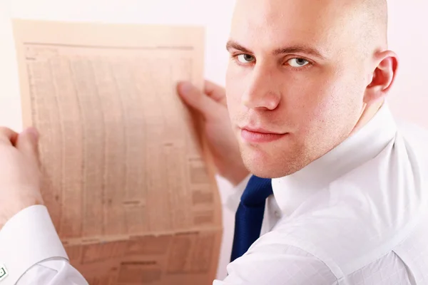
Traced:
[[24, 126], [43, 195], [91, 285], [212, 284], [222, 235], [213, 164], [176, 93], [203, 85], [203, 28], [16, 19]]

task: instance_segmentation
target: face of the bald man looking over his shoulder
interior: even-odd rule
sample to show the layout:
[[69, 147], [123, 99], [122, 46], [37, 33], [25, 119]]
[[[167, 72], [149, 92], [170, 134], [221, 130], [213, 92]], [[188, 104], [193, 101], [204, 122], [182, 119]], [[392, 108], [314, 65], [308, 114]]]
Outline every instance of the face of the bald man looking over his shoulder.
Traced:
[[238, 0], [226, 93], [255, 175], [300, 170], [345, 140], [360, 118], [367, 61], [356, 21], [338, 3]]

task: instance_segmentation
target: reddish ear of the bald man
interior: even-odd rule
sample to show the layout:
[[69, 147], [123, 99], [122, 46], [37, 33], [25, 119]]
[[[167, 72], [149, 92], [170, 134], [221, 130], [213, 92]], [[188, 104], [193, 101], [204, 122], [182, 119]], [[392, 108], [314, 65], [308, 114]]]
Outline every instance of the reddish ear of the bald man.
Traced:
[[364, 102], [370, 104], [384, 99], [397, 75], [398, 57], [393, 51], [382, 51], [374, 58], [374, 71], [365, 91]]

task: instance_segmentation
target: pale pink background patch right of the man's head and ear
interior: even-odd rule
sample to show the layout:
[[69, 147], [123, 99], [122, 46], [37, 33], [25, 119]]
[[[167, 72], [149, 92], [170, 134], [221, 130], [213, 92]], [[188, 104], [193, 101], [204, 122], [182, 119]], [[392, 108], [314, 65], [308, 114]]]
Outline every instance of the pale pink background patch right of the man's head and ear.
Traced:
[[397, 117], [428, 128], [428, 1], [389, 1], [389, 46], [400, 58], [389, 104]]

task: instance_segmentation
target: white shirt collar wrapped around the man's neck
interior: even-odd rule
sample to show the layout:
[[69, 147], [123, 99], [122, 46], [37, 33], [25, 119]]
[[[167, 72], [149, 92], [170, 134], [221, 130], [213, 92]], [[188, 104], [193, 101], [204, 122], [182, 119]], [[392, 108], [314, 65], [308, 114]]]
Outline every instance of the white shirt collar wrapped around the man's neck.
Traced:
[[292, 175], [272, 179], [272, 189], [282, 214], [289, 215], [317, 190], [374, 158], [397, 132], [392, 113], [384, 103], [364, 127]]

